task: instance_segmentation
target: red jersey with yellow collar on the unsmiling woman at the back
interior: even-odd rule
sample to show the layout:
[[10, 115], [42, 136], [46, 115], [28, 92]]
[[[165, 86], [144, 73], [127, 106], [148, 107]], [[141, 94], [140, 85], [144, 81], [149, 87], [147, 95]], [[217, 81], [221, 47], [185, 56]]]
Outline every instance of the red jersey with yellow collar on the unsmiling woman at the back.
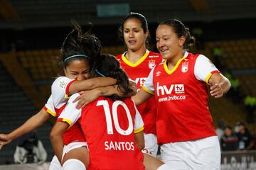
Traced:
[[[146, 50], [145, 55], [136, 63], [129, 62], [124, 55], [125, 53], [117, 55], [117, 60], [119, 60], [122, 69], [127, 73], [129, 79], [136, 82], [138, 90], [144, 84], [146, 77], [149, 76], [151, 69], [162, 61], [159, 53], [149, 50]], [[142, 103], [137, 108], [144, 120], [144, 132], [156, 135], [156, 101], [154, 97], [152, 96], [149, 101]]]

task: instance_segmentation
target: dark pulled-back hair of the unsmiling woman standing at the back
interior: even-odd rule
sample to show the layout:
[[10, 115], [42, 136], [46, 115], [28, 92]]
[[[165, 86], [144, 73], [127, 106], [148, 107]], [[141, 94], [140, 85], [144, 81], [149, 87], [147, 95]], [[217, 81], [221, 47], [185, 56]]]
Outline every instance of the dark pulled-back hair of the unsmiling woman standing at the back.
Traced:
[[[125, 42], [124, 42], [124, 23], [125, 23], [125, 21], [127, 21], [130, 18], [136, 18], [137, 20], [139, 20], [139, 22], [142, 25], [142, 30], [143, 30], [144, 33], [146, 33], [147, 30], [149, 31], [148, 23], [146, 21], [146, 18], [141, 13], [130, 12], [127, 16], [124, 17], [124, 20], [122, 21], [121, 25], [118, 28], [119, 40], [122, 43], [124, 43], [124, 45], [125, 45]], [[149, 47], [149, 40], [150, 40], [150, 35], [148, 34], [148, 37], [146, 38], [146, 47]]]

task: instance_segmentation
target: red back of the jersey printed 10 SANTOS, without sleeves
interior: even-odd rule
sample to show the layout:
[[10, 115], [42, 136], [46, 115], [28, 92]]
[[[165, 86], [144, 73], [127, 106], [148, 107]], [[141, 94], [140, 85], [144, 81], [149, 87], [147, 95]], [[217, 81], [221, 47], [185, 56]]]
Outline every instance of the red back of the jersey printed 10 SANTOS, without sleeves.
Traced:
[[80, 125], [90, 151], [90, 169], [144, 169], [143, 154], [134, 142], [136, 114], [131, 98], [100, 97], [82, 109]]

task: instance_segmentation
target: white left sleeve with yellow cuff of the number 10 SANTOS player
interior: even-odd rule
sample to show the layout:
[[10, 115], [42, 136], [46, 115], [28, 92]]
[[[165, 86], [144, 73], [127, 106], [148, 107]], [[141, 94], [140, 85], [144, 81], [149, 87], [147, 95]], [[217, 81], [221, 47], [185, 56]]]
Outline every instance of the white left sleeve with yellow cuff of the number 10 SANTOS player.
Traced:
[[73, 103], [75, 98], [77, 98], [79, 94], [73, 94], [70, 96], [68, 100], [67, 106], [65, 106], [63, 112], [58, 117], [58, 122], [66, 122], [70, 126], [74, 125], [78, 119], [81, 117], [82, 109], [75, 108], [78, 104], [78, 101]]

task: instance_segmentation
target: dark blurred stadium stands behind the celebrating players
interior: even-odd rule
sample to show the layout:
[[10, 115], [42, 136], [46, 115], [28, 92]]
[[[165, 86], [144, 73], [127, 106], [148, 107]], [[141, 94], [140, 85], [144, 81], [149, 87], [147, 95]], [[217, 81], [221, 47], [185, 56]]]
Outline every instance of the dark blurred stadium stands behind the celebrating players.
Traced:
[[[100, 38], [103, 52], [117, 55], [124, 52], [117, 30], [131, 11], [142, 13], [149, 22], [150, 50], [155, 52], [159, 22], [177, 18], [190, 28], [197, 39], [191, 52], [206, 55], [232, 84], [225, 97], [209, 98], [220, 140], [227, 125], [234, 132], [244, 125], [254, 145], [250, 149], [238, 147], [234, 152], [223, 150], [222, 169], [232, 167], [232, 157], [237, 163], [246, 163], [248, 169], [256, 169], [253, 0], [0, 0], [0, 133], [18, 128], [46, 103], [50, 85], [58, 76], [53, 58], [72, 28], [72, 19], [84, 26], [93, 23], [92, 32]], [[51, 127], [48, 122], [36, 130], [48, 155], [46, 162], [54, 155], [49, 140]], [[17, 142], [0, 150], [0, 164], [14, 164]]]

